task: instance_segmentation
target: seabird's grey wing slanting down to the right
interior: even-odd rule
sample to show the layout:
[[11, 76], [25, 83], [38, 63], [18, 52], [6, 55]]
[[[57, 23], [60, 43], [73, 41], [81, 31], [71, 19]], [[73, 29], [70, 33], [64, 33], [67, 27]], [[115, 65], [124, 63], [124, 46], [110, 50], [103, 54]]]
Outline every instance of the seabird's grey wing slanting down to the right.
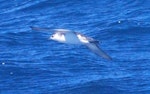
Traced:
[[107, 60], [112, 60], [112, 58], [107, 55], [99, 46], [97, 43], [87, 43], [85, 44], [93, 53], [97, 54], [98, 56], [101, 56]]

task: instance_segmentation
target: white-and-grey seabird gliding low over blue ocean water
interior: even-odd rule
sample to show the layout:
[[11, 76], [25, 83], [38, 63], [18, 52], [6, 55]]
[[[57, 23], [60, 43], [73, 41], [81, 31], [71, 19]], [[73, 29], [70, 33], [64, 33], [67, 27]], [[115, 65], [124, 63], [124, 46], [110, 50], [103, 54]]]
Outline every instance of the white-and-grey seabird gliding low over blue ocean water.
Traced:
[[69, 29], [51, 29], [34, 26], [30, 28], [36, 31], [51, 31], [53, 34], [49, 37], [50, 40], [66, 44], [84, 45], [96, 55], [106, 60], [112, 60], [112, 58], [99, 47], [99, 41], [92, 37], [87, 37], [84, 34]]

